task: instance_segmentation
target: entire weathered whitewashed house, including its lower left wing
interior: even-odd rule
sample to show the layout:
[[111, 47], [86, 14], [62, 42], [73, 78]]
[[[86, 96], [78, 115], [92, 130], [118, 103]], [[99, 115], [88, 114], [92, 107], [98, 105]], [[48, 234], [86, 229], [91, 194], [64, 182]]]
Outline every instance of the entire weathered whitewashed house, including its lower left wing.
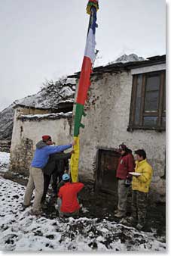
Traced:
[[[80, 73], [69, 77], [79, 78]], [[78, 86], [76, 86], [76, 90]], [[76, 95], [76, 94], [75, 94]], [[97, 191], [116, 194], [118, 145], [144, 148], [154, 168], [151, 198], [165, 200], [166, 187], [166, 55], [145, 61], [93, 68], [81, 123], [79, 179]], [[72, 139], [75, 106], [68, 114], [17, 106], [11, 143], [11, 169], [29, 168], [35, 142], [53, 136], [56, 144]], [[41, 115], [40, 115], [41, 114]]]

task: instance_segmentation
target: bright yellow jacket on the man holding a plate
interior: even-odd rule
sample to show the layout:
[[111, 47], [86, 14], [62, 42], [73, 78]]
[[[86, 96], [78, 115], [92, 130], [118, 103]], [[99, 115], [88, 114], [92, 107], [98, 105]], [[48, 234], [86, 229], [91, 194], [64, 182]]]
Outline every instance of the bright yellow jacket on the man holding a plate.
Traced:
[[148, 164], [146, 159], [140, 162], [136, 161], [135, 172], [142, 173], [142, 175], [133, 176], [132, 189], [147, 193], [149, 191], [151, 177], [153, 174], [151, 165]]

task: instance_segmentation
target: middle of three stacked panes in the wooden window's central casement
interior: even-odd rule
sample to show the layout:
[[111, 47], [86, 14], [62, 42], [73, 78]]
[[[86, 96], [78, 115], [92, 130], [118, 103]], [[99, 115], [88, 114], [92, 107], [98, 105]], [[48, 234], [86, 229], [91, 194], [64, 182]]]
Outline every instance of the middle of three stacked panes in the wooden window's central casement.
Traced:
[[157, 111], [158, 109], [158, 91], [146, 92], [145, 111]]

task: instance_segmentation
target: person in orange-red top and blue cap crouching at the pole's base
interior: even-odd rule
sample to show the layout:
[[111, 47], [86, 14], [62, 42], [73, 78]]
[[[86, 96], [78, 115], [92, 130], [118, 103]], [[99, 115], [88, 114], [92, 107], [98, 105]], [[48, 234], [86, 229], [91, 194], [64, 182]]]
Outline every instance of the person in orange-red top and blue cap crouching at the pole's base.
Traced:
[[63, 174], [64, 185], [60, 188], [57, 198], [60, 217], [71, 217], [79, 214], [80, 204], [78, 203], [78, 192], [83, 189], [83, 183], [70, 183], [68, 173]]

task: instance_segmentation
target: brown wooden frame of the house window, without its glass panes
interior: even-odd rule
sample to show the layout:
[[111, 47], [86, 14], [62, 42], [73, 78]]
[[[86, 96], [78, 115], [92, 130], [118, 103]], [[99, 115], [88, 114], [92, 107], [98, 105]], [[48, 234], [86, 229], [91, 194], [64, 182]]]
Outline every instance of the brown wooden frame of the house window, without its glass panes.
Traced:
[[[145, 112], [145, 90], [147, 77], [151, 75], [160, 75], [160, 88], [159, 88], [159, 101], [157, 111], [146, 111]], [[136, 112], [136, 91], [137, 91], [137, 81], [138, 76], [142, 75], [142, 90], [141, 90], [141, 103], [140, 103], [140, 113], [139, 113], [139, 124], [135, 123], [135, 112]], [[166, 111], [163, 111], [163, 101], [164, 99], [164, 86], [166, 86], [166, 70], [148, 72], [148, 73], [138, 73], [133, 75], [133, 88], [130, 102], [130, 121], [127, 128], [128, 131], [133, 130], [166, 130], [166, 126], [162, 126], [162, 117], [166, 117]], [[144, 117], [157, 117], [157, 126], [147, 126], [143, 124]]]

